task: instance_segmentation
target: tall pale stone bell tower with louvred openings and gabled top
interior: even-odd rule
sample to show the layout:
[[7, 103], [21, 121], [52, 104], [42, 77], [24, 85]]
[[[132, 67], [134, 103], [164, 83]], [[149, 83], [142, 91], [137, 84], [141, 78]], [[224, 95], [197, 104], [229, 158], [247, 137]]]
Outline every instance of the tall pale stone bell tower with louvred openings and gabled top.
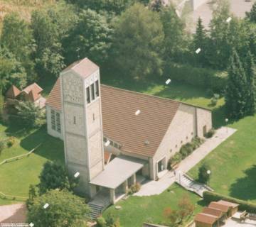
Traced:
[[89, 182], [104, 170], [100, 69], [85, 58], [60, 73], [65, 164], [80, 172], [78, 192], [93, 196]]

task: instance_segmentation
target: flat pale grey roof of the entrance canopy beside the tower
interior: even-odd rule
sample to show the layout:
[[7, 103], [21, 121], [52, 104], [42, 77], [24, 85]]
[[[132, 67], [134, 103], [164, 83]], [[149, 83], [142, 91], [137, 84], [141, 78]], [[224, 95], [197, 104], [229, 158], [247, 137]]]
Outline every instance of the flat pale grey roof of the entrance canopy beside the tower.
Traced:
[[90, 181], [90, 184], [95, 184], [110, 189], [116, 189], [132, 177], [138, 170], [146, 164], [146, 161], [135, 157], [119, 155], [115, 157], [97, 177]]

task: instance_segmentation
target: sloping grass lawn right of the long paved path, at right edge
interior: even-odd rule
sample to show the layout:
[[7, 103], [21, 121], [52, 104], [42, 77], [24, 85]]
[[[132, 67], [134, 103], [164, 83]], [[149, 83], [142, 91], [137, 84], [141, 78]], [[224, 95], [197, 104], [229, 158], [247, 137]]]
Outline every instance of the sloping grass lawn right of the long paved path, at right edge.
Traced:
[[[256, 116], [230, 124], [238, 131], [213, 150], [202, 162], [208, 162], [215, 192], [256, 203]], [[190, 171], [197, 176], [199, 163]]]

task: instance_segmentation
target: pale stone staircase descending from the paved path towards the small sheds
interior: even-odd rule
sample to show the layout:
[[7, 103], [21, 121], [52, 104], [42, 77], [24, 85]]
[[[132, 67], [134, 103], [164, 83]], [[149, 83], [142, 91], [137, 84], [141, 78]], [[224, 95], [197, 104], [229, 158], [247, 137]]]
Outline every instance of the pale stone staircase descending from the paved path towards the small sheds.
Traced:
[[188, 191], [195, 192], [201, 197], [203, 197], [203, 192], [213, 191], [213, 189], [208, 187], [206, 184], [196, 182], [193, 178], [189, 177], [183, 172], [178, 172], [176, 175], [176, 182]]

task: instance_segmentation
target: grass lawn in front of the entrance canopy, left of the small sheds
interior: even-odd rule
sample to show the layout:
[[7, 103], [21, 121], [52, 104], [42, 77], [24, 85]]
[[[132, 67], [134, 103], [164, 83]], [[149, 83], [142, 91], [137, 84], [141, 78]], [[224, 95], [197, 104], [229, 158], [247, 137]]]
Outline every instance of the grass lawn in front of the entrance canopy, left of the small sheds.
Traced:
[[[166, 207], [177, 209], [178, 201], [186, 195], [195, 204], [194, 214], [197, 214], [203, 207], [199, 197], [174, 184], [169, 190], [159, 195], [130, 196], [127, 200], [119, 201], [116, 204], [121, 206], [121, 209], [117, 210], [114, 209], [114, 206], [110, 206], [103, 216], [106, 218], [108, 214], [112, 214], [115, 217], [119, 217], [121, 226], [125, 227], [140, 227], [144, 222], [161, 223], [164, 221], [164, 209]], [[187, 218], [185, 222], [191, 221], [191, 218]]]

